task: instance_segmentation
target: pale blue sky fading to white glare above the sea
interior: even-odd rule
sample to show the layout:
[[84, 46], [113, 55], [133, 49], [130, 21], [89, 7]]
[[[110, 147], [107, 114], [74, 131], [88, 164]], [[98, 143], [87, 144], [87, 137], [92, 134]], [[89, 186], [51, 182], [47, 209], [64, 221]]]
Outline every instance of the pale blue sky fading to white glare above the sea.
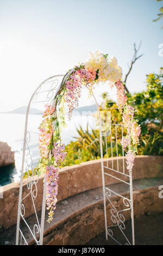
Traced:
[[[159, 72], [163, 57], [163, 2], [156, 0], [0, 0], [0, 112], [28, 105], [46, 78], [65, 74], [95, 50], [115, 56], [123, 78], [133, 57], [134, 42], [142, 45], [127, 80], [131, 93], [146, 89], [146, 74]], [[95, 96], [111, 95], [108, 84]], [[80, 106], [91, 105], [84, 91]]]

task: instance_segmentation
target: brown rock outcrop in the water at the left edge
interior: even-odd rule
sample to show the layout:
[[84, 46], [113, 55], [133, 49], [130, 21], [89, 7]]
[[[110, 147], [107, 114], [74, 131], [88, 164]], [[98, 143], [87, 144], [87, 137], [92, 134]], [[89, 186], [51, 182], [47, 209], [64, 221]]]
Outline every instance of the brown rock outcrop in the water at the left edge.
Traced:
[[0, 167], [15, 163], [14, 152], [6, 142], [0, 142]]

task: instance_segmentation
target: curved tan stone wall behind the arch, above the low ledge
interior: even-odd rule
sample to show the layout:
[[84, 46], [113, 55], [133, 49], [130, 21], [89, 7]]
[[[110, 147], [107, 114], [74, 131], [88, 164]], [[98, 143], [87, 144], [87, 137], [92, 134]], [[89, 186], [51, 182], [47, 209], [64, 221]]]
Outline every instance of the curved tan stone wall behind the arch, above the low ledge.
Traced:
[[[117, 160], [113, 157], [114, 166], [116, 168]], [[119, 164], [122, 166], [122, 157], [119, 157]], [[111, 167], [111, 159], [105, 159], [104, 164]], [[163, 176], [163, 157], [162, 156], [137, 156], [133, 168], [133, 179], [154, 178]], [[111, 172], [110, 172], [111, 174]], [[121, 178], [121, 174], [117, 174]], [[22, 198], [29, 193], [27, 188], [28, 179], [23, 180]], [[105, 185], [117, 183], [118, 180], [106, 176]], [[3, 186], [3, 198], [0, 198], [0, 228], [1, 231], [14, 225], [17, 220], [17, 204], [20, 183], [12, 183]], [[71, 167], [64, 167], [60, 170], [58, 201], [74, 194], [91, 190], [92, 188], [101, 187], [101, 160], [93, 160], [77, 164]], [[35, 186], [32, 188], [36, 191]], [[35, 200], [35, 208], [37, 211], [42, 207], [42, 191], [43, 191], [43, 175], [39, 177], [37, 182], [37, 198]], [[27, 197], [24, 199], [26, 205], [26, 217], [34, 213], [32, 199]]]

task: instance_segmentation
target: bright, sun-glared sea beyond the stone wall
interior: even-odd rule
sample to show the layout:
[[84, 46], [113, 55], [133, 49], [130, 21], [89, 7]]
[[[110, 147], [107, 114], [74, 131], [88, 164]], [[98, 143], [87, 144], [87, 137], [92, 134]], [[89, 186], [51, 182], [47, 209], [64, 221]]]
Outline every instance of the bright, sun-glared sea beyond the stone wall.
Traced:
[[[23, 153], [23, 139], [24, 127], [26, 122], [26, 114], [0, 114], [0, 141], [7, 142], [11, 150], [15, 152], [15, 164], [0, 168], [0, 186], [17, 182], [20, 180], [22, 168], [22, 153]], [[28, 116], [28, 133], [26, 139], [26, 158], [24, 170], [30, 168], [30, 162], [33, 165], [39, 160], [39, 130], [38, 127], [42, 121], [42, 115], [29, 114]], [[97, 127], [97, 120], [95, 113], [79, 113], [74, 112], [71, 120], [66, 117], [67, 127], [62, 128], [61, 139], [65, 145], [71, 141], [76, 141], [79, 137], [77, 128], [82, 126], [85, 130], [87, 124], [89, 130]]]

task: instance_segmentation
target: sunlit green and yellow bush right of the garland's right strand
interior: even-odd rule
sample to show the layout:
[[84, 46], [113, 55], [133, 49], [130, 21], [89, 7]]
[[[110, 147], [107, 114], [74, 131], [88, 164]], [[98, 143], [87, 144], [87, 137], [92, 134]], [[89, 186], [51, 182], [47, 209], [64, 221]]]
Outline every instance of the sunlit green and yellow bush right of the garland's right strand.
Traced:
[[163, 155], [163, 75], [147, 75], [147, 90], [132, 96], [141, 124], [139, 154]]

